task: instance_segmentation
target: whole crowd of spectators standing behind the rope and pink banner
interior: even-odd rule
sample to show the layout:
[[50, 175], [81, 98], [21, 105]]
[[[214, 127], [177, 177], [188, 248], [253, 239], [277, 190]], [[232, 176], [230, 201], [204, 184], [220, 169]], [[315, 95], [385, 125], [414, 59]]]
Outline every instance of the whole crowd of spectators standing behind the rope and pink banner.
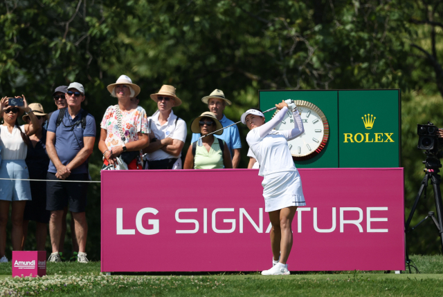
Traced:
[[[174, 86], [163, 85], [150, 95], [158, 108], [151, 116], [138, 106], [141, 88], [126, 75], [118, 77], [107, 90], [117, 102], [107, 108], [100, 122], [98, 148], [103, 170], [238, 168], [242, 144], [237, 126], [230, 126], [234, 122], [224, 115], [232, 102], [223, 91], [216, 89], [201, 99], [209, 111], [190, 123], [192, 140], [182, 164], [187, 126], [172, 110], [182, 103]], [[96, 142], [96, 120], [82, 108], [82, 84], [58, 86], [52, 97], [57, 109], [51, 113], [45, 113], [41, 104], [28, 104], [24, 95], [0, 101], [0, 262], [8, 262], [5, 251], [10, 208], [13, 250], [24, 249], [29, 221], [35, 221], [36, 249], [45, 250], [49, 229], [52, 253], [48, 262], [62, 262], [69, 211], [71, 260], [89, 261], [88, 160]], [[26, 124], [19, 125], [19, 117]], [[248, 157], [248, 168], [258, 168], [251, 152]]]

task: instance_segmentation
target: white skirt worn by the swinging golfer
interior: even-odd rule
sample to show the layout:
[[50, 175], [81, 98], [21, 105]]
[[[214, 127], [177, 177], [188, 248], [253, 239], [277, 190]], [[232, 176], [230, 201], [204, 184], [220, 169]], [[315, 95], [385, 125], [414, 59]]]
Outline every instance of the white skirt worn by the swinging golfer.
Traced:
[[284, 171], [264, 176], [263, 182], [264, 211], [276, 211], [285, 207], [306, 205], [303, 195], [302, 180], [298, 171]]

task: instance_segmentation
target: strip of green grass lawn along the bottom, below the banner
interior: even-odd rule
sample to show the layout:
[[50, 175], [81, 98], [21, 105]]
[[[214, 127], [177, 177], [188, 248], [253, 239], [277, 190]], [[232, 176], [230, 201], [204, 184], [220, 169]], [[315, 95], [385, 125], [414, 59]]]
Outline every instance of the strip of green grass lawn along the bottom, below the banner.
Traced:
[[[0, 265], [0, 296], [443, 296], [443, 257], [412, 256], [422, 274], [383, 271], [255, 273], [100, 273], [100, 262], [48, 263], [44, 278], [10, 278]], [[29, 292], [29, 293], [27, 293]]]

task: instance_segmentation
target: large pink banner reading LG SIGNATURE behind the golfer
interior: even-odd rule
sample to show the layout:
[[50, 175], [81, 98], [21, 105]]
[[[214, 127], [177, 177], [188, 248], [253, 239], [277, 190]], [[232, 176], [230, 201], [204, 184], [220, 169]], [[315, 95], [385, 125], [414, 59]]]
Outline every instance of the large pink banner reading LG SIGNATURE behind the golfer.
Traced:
[[[292, 271], [404, 270], [403, 169], [299, 169]], [[262, 271], [257, 170], [102, 171], [102, 271]]]

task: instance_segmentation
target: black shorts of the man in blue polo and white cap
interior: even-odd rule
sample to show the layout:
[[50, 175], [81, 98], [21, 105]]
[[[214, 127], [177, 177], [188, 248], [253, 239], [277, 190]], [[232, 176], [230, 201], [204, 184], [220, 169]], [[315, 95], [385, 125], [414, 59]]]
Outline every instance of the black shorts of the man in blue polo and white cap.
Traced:
[[[83, 213], [86, 211], [87, 191], [89, 182], [63, 182], [55, 178], [55, 173], [48, 172], [46, 180], [46, 209], [62, 211], [69, 205], [69, 211]], [[88, 173], [71, 174], [66, 180], [89, 180]]]

